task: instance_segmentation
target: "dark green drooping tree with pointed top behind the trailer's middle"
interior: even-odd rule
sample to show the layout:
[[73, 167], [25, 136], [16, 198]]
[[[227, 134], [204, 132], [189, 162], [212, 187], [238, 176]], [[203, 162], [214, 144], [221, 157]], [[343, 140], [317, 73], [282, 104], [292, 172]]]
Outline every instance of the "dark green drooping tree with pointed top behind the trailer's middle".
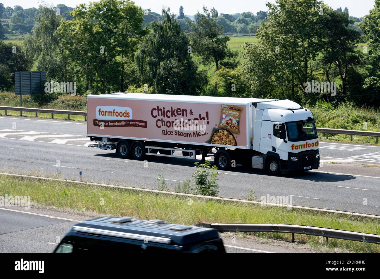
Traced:
[[162, 10], [162, 18], [152, 22], [152, 32], [135, 56], [141, 84], [153, 86], [159, 94], [199, 94], [202, 76], [188, 51], [188, 38], [169, 9]]

